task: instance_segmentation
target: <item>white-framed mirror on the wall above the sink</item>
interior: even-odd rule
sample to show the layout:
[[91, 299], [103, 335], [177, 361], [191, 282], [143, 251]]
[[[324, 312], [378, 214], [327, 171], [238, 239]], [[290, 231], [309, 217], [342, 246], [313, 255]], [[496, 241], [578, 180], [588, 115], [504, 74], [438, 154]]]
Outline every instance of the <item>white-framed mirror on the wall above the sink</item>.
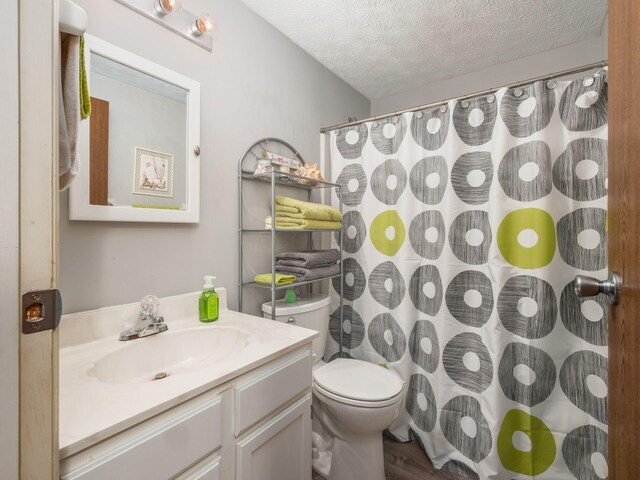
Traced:
[[90, 35], [71, 220], [198, 222], [197, 82]]

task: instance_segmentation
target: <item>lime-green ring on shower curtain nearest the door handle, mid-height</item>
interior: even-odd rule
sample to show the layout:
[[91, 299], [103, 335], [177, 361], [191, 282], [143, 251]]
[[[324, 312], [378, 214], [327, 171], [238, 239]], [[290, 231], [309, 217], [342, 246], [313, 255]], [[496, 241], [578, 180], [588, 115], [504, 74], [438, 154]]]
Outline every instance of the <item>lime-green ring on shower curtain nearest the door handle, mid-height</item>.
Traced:
[[[538, 243], [524, 247], [518, 242], [523, 230], [538, 235]], [[520, 268], [542, 268], [551, 263], [556, 253], [556, 230], [553, 218], [539, 208], [522, 208], [504, 217], [498, 227], [498, 248], [504, 259]]]

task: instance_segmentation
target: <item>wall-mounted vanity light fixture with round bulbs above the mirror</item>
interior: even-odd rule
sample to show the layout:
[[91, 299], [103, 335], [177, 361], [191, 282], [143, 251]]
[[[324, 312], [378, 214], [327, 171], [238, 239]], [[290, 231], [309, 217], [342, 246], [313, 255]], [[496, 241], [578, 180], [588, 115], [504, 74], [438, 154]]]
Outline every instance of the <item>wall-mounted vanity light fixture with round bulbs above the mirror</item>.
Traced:
[[183, 8], [184, 0], [115, 0], [211, 51], [216, 23], [209, 13], [196, 15]]

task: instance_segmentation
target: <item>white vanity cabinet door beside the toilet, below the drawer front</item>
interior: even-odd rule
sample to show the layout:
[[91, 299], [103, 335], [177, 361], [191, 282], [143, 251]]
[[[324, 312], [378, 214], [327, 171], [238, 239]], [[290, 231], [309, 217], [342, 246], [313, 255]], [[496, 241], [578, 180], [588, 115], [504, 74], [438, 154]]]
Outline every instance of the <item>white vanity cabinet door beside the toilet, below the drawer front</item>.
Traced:
[[311, 394], [236, 446], [236, 480], [311, 479]]

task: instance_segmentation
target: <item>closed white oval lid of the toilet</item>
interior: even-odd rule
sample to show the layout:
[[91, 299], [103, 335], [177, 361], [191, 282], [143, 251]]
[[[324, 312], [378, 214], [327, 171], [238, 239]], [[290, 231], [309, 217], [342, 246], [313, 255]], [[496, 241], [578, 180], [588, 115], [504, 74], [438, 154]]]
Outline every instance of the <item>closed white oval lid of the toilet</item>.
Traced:
[[379, 402], [402, 391], [400, 377], [379, 365], [338, 358], [313, 372], [313, 380], [324, 390], [354, 400]]

